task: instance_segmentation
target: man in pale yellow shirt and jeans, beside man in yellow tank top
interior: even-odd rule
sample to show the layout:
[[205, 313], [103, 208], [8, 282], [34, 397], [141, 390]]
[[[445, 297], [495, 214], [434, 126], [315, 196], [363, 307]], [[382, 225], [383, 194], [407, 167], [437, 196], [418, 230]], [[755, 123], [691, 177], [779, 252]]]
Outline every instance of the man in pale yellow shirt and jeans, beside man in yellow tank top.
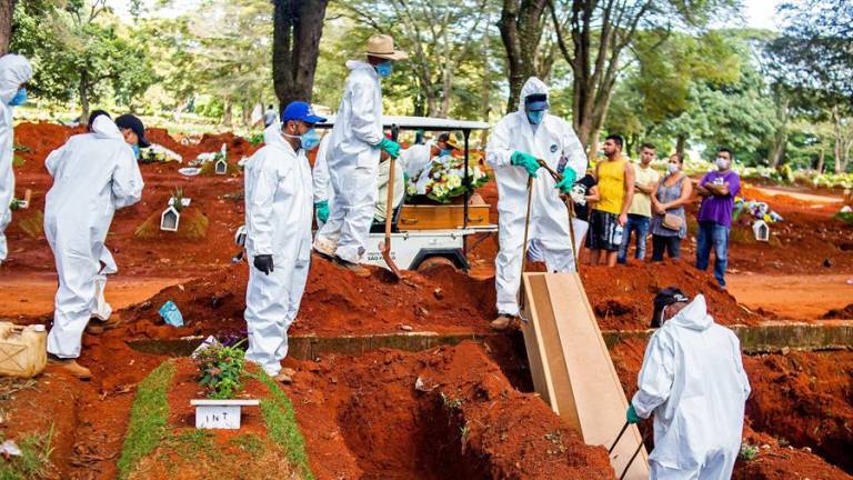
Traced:
[[636, 253], [634, 258], [645, 260], [645, 243], [649, 237], [649, 224], [652, 220], [652, 193], [658, 188], [661, 176], [652, 167], [654, 146], [643, 143], [640, 147], [640, 164], [634, 167], [634, 200], [628, 210], [628, 223], [622, 234], [622, 247], [619, 249], [619, 262], [625, 263], [628, 250], [631, 247], [631, 232], [636, 237]]

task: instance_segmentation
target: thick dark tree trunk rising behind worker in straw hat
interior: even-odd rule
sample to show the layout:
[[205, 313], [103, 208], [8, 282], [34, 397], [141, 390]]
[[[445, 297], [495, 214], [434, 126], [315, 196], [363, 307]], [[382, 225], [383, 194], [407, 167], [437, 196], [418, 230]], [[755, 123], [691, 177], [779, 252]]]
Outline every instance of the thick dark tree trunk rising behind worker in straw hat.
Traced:
[[329, 0], [273, 0], [272, 80], [283, 110], [311, 102]]

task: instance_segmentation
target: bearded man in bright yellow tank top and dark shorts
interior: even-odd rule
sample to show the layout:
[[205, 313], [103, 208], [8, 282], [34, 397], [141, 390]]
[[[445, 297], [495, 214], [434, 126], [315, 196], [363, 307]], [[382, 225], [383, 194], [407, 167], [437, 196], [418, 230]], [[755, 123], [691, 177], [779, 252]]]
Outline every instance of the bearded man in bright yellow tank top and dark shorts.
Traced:
[[623, 230], [628, 223], [628, 209], [634, 198], [634, 169], [622, 157], [624, 143], [622, 137], [609, 136], [604, 140], [606, 160], [595, 166], [601, 200], [590, 214], [590, 234], [586, 237], [593, 266], [600, 261], [606, 262], [608, 267], [616, 264]]

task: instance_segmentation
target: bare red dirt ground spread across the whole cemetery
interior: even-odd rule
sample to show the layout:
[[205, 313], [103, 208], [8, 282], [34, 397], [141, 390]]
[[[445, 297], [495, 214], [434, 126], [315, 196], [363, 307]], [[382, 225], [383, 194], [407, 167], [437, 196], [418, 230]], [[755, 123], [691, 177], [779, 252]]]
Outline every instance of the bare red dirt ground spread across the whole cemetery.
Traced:
[[[43, 159], [73, 132], [48, 123], [16, 128], [16, 143], [29, 149], [18, 152], [24, 160], [16, 168], [18, 196], [30, 188], [33, 201], [30, 209], [14, 212], [8, 231], [11, 254], [0, 267], [0, 317], [22, 323], [50, 319], [56, 273], [40, 228], [39, 213], [51, 182]], [[149, 137], [182, 154], [184, 166], [222, 143], [232, 163], [255, 149], [231, 134], [205, 136], [197, 146], [183, 146], [163, 130], [152, 129]], [[235, 253], [233, 231], [243, 222], [242, 177], [187, 178], [177, 172], [180, 167], [143, 164], [142, 202], [119, 211], [113, 220], [107, 244], [120, 272], [108, 283], [108, 300], [121, 310], [126, 324], [84, 338], [81, 362], [93, 369], [94, 379], [80, 382], [49, 369], [36, 384], [11, 400], [0, 400], [0, 410], [10, 419], [1, 424], [7, 438], [54, 426], [56, 478], [114, 478], [134, 389], [163, 360], [129, 349], [128, 339], [245, 333], [248, 266], [230, 261]], [[193, 216], [207, 219], [203, 234], [191, 240], [159, 231], [137, 234], [159, 216], [175, 187], [192, 198]], [[496, 221], [494, 183], [480, 193], [492, 206], [492, 221]], [[724, 324], [816, 321], [830, 310], [839, 310], [836, 317], [843, 318], [844, 307], [853, 300], [853, 286], [846, 283], [853, 277], [853, 227], [832, 218], [839, 208], [833, 200], [840, 193], [746, 187], [743, 194], [767, 201], [785, 222], [772, 227], [769, 243], [754, 241], [747, 226], [735, 226], [727, 292], [714, 287], [709, 272], [692, 267], [695, 224], [691, 222], [680, 262], [582, 268], [602, 329], [646, 328], [652, 297], [669, 286], [689, 294], [704, 293], [711, 313]], [[826, 196], [832, 197], [826, 200]], [[694, 218], [695, 206], [689, 210]], [[369, 279], [354, 278], [315, 258], [291, 332], [340, 336], [409, 328], [485, 332], [496, 313], [493, 259], [498, 242], [494, 234], [478, 234], [468, 244], [471, 274], [440, 266], [408, 273], [402, 282], [375, 268]], [[184, 328], [164, 326], [159, 318], [157, 310], [167, 300], [181, 309]], [[319, 362], [289, 360], [299, 373], [288, 393], [318, 478], [611, 477], [606, 453], [583, 446], [530, 393], [523, 347], [511, 339], [420, 353], [378, 351], [324, 357]], [[613, 350], [628, 393], [632, 393], [643, 349], [643, 342], [632, 340]], [[760, 453], [753, 461], [739, 463], [735, 478], [849, 478], [839, 467], [853, 471], [849, 462], [853, 447], [850, 352], [754, 357], [746, 358], [745, 364], [754, 391], [745, 438], [760, 443]], [[425, 391], [414, 388], [419, 377]], [[184, 379], [182, 386], [182, 394], [194, 394], [191, 381]], [[172, 404], [184, 400], [173, 397]], [[173, 421], [190, 421], [187, 411], [175, 412]]]

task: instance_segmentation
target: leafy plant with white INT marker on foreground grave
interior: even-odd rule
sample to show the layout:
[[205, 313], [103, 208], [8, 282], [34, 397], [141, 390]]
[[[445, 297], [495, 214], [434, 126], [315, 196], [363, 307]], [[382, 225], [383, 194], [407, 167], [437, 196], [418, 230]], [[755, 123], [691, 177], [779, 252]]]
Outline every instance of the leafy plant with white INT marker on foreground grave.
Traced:
[[197, 429], [239, 429], [241, 408], [260, 403], [258, 400], [234, 399], [242, 388], [245, 372], [245, 353], [240, 343], [242, 341], [225, 347], [211, 342], [193, 353], [193, 362], [199, 369], [199, 384], [208, 397], [190, 402], [195, 407]]

